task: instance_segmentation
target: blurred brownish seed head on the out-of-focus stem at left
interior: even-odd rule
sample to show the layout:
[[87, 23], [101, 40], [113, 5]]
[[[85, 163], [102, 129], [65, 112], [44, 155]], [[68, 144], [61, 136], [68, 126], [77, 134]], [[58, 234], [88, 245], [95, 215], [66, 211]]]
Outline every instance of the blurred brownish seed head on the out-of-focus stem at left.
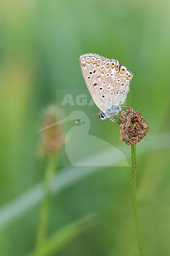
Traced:
[[[48, 105], [42, 111], [40, 128], [44, 128], [62, 119], [61, 111], [57, 105]], [[64, 143], [63, 128], [61, 125], [54, 125], [53, 127], [40, 131], [40, 147], [39, 154], [57, 153]]]

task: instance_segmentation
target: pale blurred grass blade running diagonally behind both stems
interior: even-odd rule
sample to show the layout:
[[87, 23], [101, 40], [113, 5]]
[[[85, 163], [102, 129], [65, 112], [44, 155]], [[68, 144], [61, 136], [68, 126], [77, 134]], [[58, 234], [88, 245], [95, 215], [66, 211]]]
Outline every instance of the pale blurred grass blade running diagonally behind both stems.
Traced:
[[[138, 148], [137, 155], [143, 154], [151, 151], [157, 151], [164, 148], [170, 148], [170, 133], [165, 132], [158, 134], [154, 131], [153, 134], [147, 136], [149, 143], [147, 141], [142, 141], [140, 147]], [[130, 151], [128, 147], [122, 147], [120, 144], [116, 144], [122, 152], [130, 159]], [[121, 159], [113, 159], [112, 153], [109, 150], [102, 151], [100, 157], [108, 159], [113, 163], [113, 166], [121, 163]], [[91, 156], [94, 158], [95, 156]], [[82, 163], [86, 160], [82, 160]], [[87, 160], [88, 161], [88, 160]], [[102, 170], [99, 166], [82, 166], [81, 170], [73, 167], [65, 167], [62, 172], [56, 174], [51, 185], [51, 192], [53, 195], [58, 194], [63, 189], [71, 186], [72, 184], [78, 182], [79, 180], [91, 175], [95, 172]], [[9, 225], [13, 224], [17, 219], [22, 217], [26, 212], [30, 211], [33, 207], [40, 204], [43, 197], [42, 183], [38, 183], [31, 189], [24, 192], [19, 197], [15, 198], [11, 202], [5, 204], [0, 208], [0, 233], [5, 230]]]

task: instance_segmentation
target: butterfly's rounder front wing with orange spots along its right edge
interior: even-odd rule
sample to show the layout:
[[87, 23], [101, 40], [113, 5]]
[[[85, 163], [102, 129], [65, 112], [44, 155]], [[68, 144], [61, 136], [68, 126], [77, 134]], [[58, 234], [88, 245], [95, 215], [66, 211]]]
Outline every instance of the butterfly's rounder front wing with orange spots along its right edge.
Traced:
[[133, 75], [116, 60], [108, 60], [99, 69], [97, 84], [100, 105], [107, 112], [125, 101]]

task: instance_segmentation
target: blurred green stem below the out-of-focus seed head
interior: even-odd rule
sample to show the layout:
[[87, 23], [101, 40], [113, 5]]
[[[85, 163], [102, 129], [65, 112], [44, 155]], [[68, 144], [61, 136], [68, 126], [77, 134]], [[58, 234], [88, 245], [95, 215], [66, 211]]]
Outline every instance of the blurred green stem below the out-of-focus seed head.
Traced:
[[56, 154], [51, 154], [48, 156], [48, 163], [44, 175], [44, 197], [42, 199], [42, 204], [40, 207], [40, 219], [37, 231], [37, 245], [36, 251], [39, 251], [39, 248], [43, 244], [46, 238], [48, 230], [48, 216], [49, 216], [49, 201], [50, 201], [50, 188], [51, 181], [54, 177], [54, 172], [56, 169]]

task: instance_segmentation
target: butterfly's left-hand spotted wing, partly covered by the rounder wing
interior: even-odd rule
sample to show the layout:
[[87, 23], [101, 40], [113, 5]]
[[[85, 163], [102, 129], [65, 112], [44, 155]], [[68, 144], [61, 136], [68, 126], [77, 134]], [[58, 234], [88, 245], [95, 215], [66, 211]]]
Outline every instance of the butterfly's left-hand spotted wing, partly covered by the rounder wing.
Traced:
[[85, 79], [85, 83], [88, 87], [91, 96], [101, 111], [104, 111], [104, 102], [101, 101], [101, 95], [99, 93], [99, 77], [100, 67], [108, 61], [107, 58], [101, 57], [97, 54], [84, 54], [80, 56], [80, 67], [82, 75]]

